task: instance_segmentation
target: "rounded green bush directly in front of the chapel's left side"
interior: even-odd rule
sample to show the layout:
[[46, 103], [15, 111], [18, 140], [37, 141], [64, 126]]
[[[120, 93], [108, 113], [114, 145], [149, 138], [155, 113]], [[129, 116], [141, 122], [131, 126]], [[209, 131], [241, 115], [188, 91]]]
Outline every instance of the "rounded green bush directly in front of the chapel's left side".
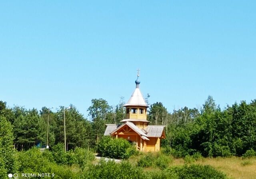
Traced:
[[136, 152], [134, 146], [122, 138], [112, 139], [110, 136], [104, 136], [98, 144], [98, 153], [102, 157], [127, 159]]

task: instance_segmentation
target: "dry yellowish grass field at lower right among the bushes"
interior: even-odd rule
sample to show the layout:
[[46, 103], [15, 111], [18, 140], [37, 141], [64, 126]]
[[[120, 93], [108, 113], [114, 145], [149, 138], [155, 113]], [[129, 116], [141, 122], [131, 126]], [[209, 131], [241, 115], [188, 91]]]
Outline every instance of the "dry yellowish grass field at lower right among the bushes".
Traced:
[[[170, 156], [167, 156], [170, 157]], [[131, 157], [129, 160], [136, 163], [140, 157]], [[184, 159], [172, 159], [170, 166], [184, 165]], [[230, 179], [256, 179], [256, 158], [242, 159], [242, 157], [216, 157], [216, 158], [202, 158], [198, 161], [192, 162], [200, 165], [211, 165], [223, 171]], [[159, 170], [155, 167], [145, 168], [145, 170]]]

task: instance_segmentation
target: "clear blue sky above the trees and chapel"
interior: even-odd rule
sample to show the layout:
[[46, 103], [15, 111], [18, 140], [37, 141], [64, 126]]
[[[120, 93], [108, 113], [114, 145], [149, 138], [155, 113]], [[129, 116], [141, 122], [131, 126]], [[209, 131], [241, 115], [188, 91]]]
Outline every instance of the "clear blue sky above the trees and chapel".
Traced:
[[169, 111], [256, 98], [256, 1], [2, 1], [0, 100], [25, 108], [135, 88]]

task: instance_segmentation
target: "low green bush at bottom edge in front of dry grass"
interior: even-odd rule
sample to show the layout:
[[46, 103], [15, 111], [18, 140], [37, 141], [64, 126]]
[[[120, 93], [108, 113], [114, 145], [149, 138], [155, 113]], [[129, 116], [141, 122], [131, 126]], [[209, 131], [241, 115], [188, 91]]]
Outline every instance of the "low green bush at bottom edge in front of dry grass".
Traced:
[[178, 179], [227, 179], [226, 175], [210, 165], [183, 165], [172, 167], [169, 172], [178, 175]]

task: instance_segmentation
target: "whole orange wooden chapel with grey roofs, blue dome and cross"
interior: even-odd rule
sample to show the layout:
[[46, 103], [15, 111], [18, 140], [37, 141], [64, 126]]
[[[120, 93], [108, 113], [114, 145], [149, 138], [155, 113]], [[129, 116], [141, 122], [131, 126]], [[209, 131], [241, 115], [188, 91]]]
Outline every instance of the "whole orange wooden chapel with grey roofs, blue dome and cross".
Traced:
[[136, 149], [140, 151], [159, 151], [160, 139], [165, 138], [165, 126], [148, 125], [147, 108], [148, 105], [140, 92], [140, 74], [138, 70], [135, 81], [136, 88], [132, 96], [124, 107], [126, 107], [125, 119], [123, 124], [106, 124], [104, 136], [113, 138], [124, 138], [136, 144]]

